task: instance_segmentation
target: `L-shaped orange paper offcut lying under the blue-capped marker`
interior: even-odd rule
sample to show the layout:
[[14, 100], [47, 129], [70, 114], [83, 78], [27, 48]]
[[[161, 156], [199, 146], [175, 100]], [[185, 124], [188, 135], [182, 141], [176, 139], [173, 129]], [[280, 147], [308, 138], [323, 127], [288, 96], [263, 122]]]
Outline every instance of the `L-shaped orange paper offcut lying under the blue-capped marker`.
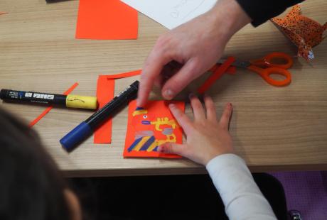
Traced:
[[[114, 79], [122, 79], [124, 77], [133, 77], [140, 75], [141, 70], [132, 72], [124, 72], [116, 75], [102, 75], [97, 79], [97, 101], [99, 108], [114, 98]], [[112, 142], [112, 119], [109, 119], [100, 128], [95, 131], [93, 143], [111, 143]]]

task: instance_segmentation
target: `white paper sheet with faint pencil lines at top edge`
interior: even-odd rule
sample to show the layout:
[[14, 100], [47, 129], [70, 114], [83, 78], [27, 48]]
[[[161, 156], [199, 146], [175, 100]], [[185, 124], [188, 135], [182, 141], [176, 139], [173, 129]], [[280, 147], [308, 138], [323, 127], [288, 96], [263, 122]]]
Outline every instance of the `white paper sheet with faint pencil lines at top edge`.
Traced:
[[137, 11], [161, 23], [176, 28], [213, 8], [217, 0], [121, 0]]

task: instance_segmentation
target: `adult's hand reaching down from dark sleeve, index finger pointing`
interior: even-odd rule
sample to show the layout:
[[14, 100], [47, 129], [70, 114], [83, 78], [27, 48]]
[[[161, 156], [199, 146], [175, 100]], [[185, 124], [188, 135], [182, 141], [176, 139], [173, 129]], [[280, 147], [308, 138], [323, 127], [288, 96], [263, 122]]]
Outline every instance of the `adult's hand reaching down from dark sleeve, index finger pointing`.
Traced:
[[202, 16], [161, 35], [144, 63], [137, 105], [144, 106], [154, 84], [165, 99], [181, 92], [209, 70], [223, 54], [228, 40], [250, 18], [236, 0], [220, 0]]

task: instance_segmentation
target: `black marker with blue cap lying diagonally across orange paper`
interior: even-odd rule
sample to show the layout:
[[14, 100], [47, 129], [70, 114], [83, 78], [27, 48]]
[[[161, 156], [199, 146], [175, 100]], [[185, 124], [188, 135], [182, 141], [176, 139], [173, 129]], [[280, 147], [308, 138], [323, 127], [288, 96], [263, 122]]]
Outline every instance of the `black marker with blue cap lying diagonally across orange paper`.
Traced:
[[61, 138], [60, 143], [67, 151], [73, 150], [77, 145], [85, 141], [94, 131], [97, 129], [109, 116], [112, 116], [114, 111], [124, 104], [128, 104], [129, 100], [136, 97], [137, 91], [139, 90], [139, 81], [135, 81], [127, 89], [121, 92], [117, 97], [114, 97], [112, 101], [103, 106], [102, 109], [98, 110], [86, 119], [79, 126], [75, 127], [65, 137]]

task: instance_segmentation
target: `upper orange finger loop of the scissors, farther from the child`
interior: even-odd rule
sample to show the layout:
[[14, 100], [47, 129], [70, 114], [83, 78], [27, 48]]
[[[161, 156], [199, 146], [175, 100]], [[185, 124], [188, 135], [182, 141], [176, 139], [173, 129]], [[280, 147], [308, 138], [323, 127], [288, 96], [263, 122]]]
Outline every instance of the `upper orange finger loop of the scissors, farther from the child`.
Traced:
[[[283, 63], [277, 63], [277, 61], [283, 61]], [[257, 65], [259, 67], [277, 67], [280, 69], [287, 70], [293, 65], [292, 58], [286, 53], [274, 52], [269, 53], [259, 60], [252, 60], [252, 65]]]

